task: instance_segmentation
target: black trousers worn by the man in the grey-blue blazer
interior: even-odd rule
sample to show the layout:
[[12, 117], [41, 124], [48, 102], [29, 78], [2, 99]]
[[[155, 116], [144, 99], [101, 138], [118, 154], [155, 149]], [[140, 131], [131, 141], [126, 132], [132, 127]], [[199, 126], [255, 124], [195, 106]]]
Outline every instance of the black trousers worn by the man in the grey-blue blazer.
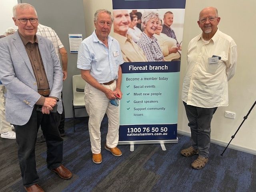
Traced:
[[18, 144], [18, 159], [23, 185], [26, 187], [37, 184], [39, 177], [36, 171], [35, 144], [38, 128], [41, 125], [46, 138], [47, 168], [54, 169], [62, 164], [63, 139], [60, 137], [58, 125], [60, 114], [42, 114], [33, 109], [30, 120], [25, 125], [14, 125]]

